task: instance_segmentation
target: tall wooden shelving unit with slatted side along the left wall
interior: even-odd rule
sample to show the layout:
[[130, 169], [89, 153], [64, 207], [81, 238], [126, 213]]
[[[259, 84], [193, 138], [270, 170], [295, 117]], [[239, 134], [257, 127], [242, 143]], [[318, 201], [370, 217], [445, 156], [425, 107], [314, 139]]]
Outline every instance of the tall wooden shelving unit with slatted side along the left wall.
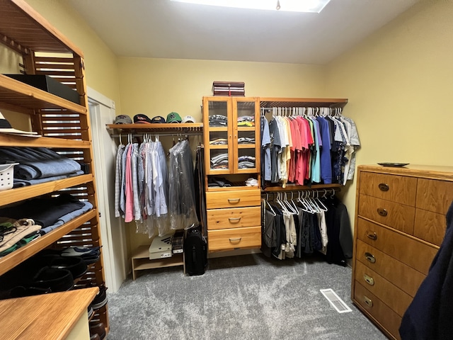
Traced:
[[[0, 258], [1, 276], [43, 249], [102, 244], [83, 52], [23, 0], [0, 0], [0, 42], [21, 55], [23, 73], [50, 76], [79, 95], [79, 103], [75, 103], [0, 74], [2, 113], [26, 117], [31, 129], [42, 136], [0, 134], [0, 148], [47, 147], [86, 164], [88, 169], [80, 176], [2, 191], [0, 206], [62, 191], [93, 204], [93, 209], [83, 215]], [[75, 288], [93, 285], [105, 285], [102, 254], [75, 283]], [[91, 322], [102, 322], [108, 331], [107, 305], [93, 313]]]

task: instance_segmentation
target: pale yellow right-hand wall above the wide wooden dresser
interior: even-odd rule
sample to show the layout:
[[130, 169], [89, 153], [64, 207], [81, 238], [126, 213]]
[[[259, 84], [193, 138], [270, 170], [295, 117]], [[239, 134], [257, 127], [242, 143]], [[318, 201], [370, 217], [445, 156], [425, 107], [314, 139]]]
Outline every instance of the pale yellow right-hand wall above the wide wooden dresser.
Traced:
[[[326, 67], [326, 96], [349, 98], [357, 164], [453, 166], [453, 2], [422, 0]], [[345, 193], [355, 211], [355, 184]]]

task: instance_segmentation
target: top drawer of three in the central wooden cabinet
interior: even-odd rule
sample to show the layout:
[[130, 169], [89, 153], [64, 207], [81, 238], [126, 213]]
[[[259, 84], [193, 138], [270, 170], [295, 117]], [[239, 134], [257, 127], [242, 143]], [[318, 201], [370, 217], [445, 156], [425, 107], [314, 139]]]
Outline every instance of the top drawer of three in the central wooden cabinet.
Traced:
[[211, 191], [206, 193], [206, 208], [239, 208], [261, 205], [259, 190]]

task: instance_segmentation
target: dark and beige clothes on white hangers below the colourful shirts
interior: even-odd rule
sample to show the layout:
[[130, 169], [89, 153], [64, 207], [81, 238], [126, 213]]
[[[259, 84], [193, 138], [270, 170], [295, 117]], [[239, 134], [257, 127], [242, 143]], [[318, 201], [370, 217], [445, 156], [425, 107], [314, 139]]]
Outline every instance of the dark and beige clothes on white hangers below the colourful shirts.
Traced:
[[318, 198], [314, 193], [319, 196], [316, 191], [304, 191], [297, 199], [263, 198], [263, 254], [285, 259], [303, 258], [318, 251], [328, 263], [347, 264], [346, 260], [352, 258], [348, 211], [333, 194]]

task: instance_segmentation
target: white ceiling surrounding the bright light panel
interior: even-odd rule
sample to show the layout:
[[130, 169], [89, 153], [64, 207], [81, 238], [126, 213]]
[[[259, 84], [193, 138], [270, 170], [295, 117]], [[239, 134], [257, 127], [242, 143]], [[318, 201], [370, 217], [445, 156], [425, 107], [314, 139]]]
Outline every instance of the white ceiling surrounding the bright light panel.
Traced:
[[170, 0], [67, 1], [118, 56], [325, 64], [418, 0], [331, 0], [319, 14]]

